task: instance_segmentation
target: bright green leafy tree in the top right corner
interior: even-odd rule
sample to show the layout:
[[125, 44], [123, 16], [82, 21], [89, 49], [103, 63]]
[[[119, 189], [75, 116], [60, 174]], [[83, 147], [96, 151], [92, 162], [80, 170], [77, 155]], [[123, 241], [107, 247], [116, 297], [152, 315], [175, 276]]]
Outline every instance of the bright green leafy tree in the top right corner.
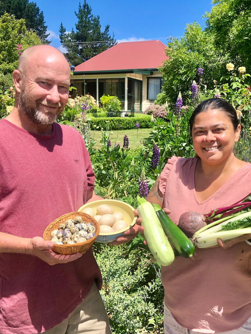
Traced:
[[212, 35], [215, 47], [229, 54], [237, 67], [251, 69], [251, 2], [249, 0], [214, 0], [206, 13], [205, 32]]

